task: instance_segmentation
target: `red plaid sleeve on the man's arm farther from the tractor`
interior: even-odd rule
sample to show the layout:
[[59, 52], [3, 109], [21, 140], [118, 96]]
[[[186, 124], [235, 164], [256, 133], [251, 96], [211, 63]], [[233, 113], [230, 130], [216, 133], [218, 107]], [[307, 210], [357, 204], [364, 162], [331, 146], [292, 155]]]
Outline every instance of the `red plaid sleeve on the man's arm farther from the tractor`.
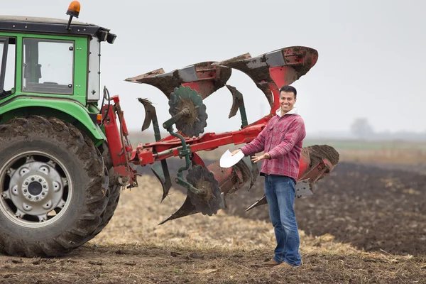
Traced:
[[271, 159], [279, 158], [280, 156], [290, 152], [298, 141], [305, 138], [305, 135], [305, 123], [302, 119], [295, 119], [290, 124], [290, 128], [287, 133], [285, 133], [283, 141], [275, 146], [271, 151], [268, 151], [268, 154], [271, 155]]

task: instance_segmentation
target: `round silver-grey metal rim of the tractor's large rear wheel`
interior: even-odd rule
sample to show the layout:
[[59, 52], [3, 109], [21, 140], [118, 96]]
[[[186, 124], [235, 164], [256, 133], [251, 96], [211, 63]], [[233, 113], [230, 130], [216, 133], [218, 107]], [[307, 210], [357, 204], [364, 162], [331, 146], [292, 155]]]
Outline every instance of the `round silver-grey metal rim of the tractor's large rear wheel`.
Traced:
[[0, 211], [27, 228], [58, 222], [72, 200], [69, 171], [44, 151], [13, 155], [0, 170], [0, 185]]

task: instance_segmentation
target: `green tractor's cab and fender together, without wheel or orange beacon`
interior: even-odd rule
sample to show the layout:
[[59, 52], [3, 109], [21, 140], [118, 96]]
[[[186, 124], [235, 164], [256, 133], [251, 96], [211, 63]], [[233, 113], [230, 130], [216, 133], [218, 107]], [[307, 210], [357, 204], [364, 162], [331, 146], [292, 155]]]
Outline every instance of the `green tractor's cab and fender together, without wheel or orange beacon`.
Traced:
[[71, 28], [55, 19], [0, 16], [0, 124], [31, 114], [60, 117], [99, 146], [106, 136], [96, 121], [98, 36], [109, 33], [79, 22]]

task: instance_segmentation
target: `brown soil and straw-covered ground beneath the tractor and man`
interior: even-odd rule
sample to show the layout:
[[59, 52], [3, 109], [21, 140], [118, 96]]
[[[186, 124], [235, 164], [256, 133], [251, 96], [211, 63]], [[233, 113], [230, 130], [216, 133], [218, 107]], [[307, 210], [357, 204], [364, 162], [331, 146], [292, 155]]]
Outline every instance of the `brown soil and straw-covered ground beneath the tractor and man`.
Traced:
[[[169, 162], [172, 173], [182, 160]], [[263, 178], [228, 197], [213, 217], [157, 226], [185, 200], [143, 168], [139, 187], [95, 239], [62, 258], [0, 256], [0, 283], [425, 283], [426, 175], [404, 167], [340, 162], [296, 200], [303, 265], [264, 268], [275, 246]]]

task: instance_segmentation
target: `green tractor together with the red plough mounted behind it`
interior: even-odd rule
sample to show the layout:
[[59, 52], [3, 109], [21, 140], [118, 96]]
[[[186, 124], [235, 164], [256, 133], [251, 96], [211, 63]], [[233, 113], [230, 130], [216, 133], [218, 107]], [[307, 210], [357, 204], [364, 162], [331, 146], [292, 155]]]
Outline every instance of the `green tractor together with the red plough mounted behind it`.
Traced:
[[[160, 89], [170, 106], [170, 119], [161, 124], [170, 135], [162, 138], [153, 104], [138, 98], [146, 114], [141, 129], [152, 125], [155, 142], [133, 147], [119, 96], [100, 84], [101, 45], [114, 43], [116, 35], [73, 21], [79, 13], [80, 3], [72, 1], [65, 19], [0, 16], [1, 253], [61, 256], [93, 239], [111, 220], [121, 190], [138, 186], [137, 165], [151, 166], [164, 200], [172, 186], [170, 157], [185, 161], [175, 182], [187, 189], [187, 199], [160, 224], [226, 209], [227, 195], [253, 185], [258, 165], [251, 157], [230, 168], [219, 161], [206, 165], [197, 152], [256, 138], [279, 108], [278, 89], [305, 75], [318, 58], [312, 48], [293, 46], [129, 77]], [[232, 69], [261, 89], [269, 114], [249, 124], [243, 95], [226, 84]], [[204, 133], [204, 99], [222, 87], [231, 92], [229, 117], [239, 112], [241, 129]], [[297, 197], [312, 195], [338, 160], [329, 146], [304, 148]], [[247, 210], [261, 204], [264, 197]]]

